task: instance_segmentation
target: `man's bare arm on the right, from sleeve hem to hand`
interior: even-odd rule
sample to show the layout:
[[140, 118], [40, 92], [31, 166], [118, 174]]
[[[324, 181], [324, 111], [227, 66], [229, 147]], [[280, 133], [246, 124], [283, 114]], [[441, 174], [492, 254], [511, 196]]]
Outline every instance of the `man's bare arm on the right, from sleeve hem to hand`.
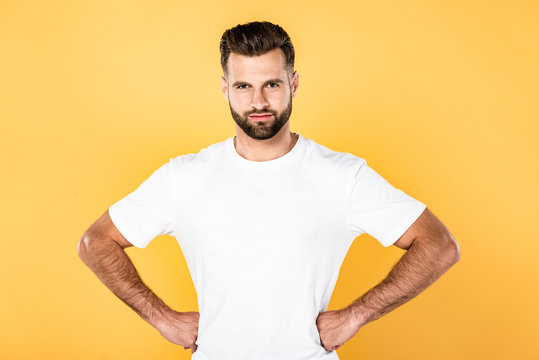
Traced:
[[428, 208], [393, 245], [406, 253], [381, 283], [346, 308], [319, 314], [326, 350], [338, 349], [367, 323], [417, 296], [460, 259], [458, 243]]

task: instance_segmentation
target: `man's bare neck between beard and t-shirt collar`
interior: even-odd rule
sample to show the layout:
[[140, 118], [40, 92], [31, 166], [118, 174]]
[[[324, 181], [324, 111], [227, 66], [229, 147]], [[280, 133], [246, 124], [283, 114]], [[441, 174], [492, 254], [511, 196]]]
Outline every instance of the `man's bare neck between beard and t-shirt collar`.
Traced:
[[285, 130], [266, 140], [256, 140], [245, 133], [238, 132], [234, 137], [234, 147], [236, 152], [247, 160], [274, 160], [292, 150], [299, 138], [290, 130]]

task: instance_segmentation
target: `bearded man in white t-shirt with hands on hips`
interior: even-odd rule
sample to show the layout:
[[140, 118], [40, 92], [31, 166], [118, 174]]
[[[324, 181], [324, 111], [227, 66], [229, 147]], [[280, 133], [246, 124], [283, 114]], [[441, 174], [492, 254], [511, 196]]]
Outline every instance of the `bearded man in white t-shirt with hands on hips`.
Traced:
[[[222, 91], [236, 135], [171, 158], [82, 236], [85, 264], [192, 359], [338, 359], [361, 327], [410, 300], [460, 258], [426, 205], [366, 161], [291, 133], [294, 48], [268, 22], [225, 31]], [[353, 240], [407, 250], [376, 287], [326, 311]], [[124, 252], [177, 238], [200, 312], [170, 309]]]

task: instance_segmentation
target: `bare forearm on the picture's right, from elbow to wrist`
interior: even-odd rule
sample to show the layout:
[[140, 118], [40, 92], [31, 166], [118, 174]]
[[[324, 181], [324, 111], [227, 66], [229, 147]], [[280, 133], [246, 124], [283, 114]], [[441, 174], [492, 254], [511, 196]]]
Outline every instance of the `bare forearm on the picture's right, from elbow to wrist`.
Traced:
[[416, 239], [387, 277], [349, 305], [358, 328], [411, 300], [458, 261], [458, 245]]

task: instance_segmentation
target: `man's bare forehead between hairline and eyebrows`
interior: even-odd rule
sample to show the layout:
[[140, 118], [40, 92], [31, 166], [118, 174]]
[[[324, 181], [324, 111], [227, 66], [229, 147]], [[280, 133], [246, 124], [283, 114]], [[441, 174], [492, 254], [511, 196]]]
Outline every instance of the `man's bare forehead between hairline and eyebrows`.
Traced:
[[230, 80], [249, 81], [266, 78], [285, 78], [286, 59], [279, 48], [259, 56], [230, 53], [228, 58], [228, 77]]

